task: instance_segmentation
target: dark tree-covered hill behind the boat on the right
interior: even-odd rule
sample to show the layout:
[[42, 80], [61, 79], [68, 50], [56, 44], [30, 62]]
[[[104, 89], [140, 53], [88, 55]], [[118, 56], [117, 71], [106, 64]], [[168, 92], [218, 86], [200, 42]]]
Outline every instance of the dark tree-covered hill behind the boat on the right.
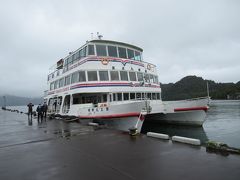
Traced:
[[240, 81], [215, 83], [197, 76], [186, 76], [176, 83], [161, 84], [163, 100], [181, 100], [207, 96], [207, 82], [212, 99], [240, 99]]

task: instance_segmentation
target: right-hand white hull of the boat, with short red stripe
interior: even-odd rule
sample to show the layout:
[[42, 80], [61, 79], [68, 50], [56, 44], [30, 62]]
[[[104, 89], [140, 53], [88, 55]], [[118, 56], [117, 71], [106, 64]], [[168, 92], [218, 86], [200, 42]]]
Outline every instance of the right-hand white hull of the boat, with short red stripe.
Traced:
[[202, 126], [209, 109], [209, 100], [209, 97], [202, 97], [180, 101], [163, 101], [161, 108], [152, 106], [153, 110], [147, 115], [146, 120], [156, 123]]

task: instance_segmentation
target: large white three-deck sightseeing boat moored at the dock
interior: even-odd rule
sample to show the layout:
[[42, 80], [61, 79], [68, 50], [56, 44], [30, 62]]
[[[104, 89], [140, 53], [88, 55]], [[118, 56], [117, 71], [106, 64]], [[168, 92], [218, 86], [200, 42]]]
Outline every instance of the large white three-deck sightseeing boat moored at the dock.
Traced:
[[[163, 102], [154, 64], [140, 47], [101, 38], [87, 41], [51, 68], [49, 113], [141, 131], [144, 119], [202, 125], [206, 99]], [[144, 118], [145, 117], [145, 118]], [[159, 119], [160, 117], [160, 119]]]

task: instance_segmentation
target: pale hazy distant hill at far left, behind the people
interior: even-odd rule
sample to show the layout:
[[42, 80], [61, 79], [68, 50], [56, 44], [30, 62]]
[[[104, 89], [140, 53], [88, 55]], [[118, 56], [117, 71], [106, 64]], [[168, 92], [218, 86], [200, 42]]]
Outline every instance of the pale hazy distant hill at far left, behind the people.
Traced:
[[[43, 98], [37, 97], [37, 98], [27, 98], [27, 97], [19, 97], [19, 96], [11, 96], [11, 95], [5, 95], [6, 97], [6, 104], [7, 106], [21, 106], [26, 105], [29, 102], [33, 104], [39, 104], [43, 102]], [[3, 96], [0, 96], [0, 106], [3, 106]]]

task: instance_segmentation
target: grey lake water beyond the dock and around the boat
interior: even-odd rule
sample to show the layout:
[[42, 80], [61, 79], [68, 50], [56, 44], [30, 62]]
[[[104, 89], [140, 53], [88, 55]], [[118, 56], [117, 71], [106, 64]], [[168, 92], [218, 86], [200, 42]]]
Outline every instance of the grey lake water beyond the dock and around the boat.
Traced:
[[[27, 106], [12, 106], [11, 109], [27, 112]], [[145, 123], [143, 133], [148, 131], [198, 138], [203, 143], [208, 140], [223, 142], [240, 148], [240, 101], [212, 101], [203, 127]]]

